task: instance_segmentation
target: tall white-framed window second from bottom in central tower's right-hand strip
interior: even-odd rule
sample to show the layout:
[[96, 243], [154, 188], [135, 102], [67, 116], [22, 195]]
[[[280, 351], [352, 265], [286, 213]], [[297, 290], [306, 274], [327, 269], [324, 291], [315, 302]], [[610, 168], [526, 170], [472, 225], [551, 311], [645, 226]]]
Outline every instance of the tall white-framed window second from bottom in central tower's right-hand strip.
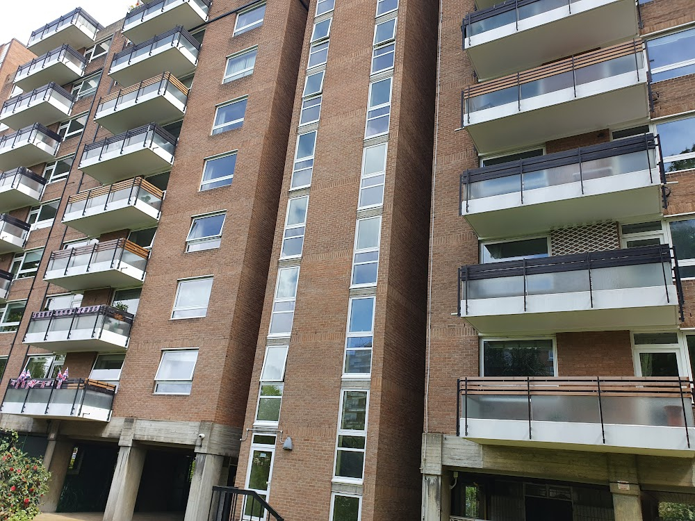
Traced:
[[340, 481], [361, 482], [367, 440], [366, 390], [344, 390], [338, 419], [335, 477]]

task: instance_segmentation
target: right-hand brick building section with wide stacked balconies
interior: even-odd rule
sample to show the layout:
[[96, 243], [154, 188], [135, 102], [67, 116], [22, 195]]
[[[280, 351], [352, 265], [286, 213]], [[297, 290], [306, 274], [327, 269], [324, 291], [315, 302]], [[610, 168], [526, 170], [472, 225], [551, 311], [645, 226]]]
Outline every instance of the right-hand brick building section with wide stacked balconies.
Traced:
[[423, 519], [662, 519], [695, 504], [695, 11], [493, 4], [442, 2]]

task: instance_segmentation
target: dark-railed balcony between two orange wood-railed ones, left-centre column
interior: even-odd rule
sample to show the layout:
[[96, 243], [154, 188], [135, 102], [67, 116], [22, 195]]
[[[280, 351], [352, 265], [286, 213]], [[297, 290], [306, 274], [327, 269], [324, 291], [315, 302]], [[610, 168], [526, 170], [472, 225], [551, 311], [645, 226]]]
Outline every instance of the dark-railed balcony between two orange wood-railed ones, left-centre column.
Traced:
[[103, 184], [163, 172], [174, 163], [176, 142], [158, 124], [141, 126], [86, 145], [79, 169]]

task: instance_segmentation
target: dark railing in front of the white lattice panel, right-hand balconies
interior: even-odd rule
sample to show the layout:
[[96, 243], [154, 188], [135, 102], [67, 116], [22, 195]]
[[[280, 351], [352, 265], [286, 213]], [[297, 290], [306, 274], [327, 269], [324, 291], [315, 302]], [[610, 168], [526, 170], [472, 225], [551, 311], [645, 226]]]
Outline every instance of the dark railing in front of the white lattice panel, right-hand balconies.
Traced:
[[[664, 267], [666, 263], [671, 265], [671, 273], [667, 274], [667, 270]], [[673, 251], [669, 245], [642, 246], [626, 249], [612, 249], [607, 251], [591, 251], [586, 254], [524, 258], [520, 261], [506, 261], [500, 263], [463, 266], [459, 268], [458, 272], [458, 313], [461, 315], [461, 312], [463, 312], [464, 316], [468, 315], [468, 301], [478, 298], [475, 297], [475, 295], [471, 297], [468, 288], [469, 283], [471, 282], [482, 281], [485, 279], [500, 279], [502, 277], [521, 277], [523, 279], [523, 287], [521, 286], [521, 283], [512, 285], [510, 281], [508, 285], [509, 287], [505, 288], [505, 295], [500, 296], [523, 297], [523, 311], [527, 311], [529, 295], [545, 295], [550, 293], [550, 291], [543, 292], [542, 290], [535, 290], [532, 292], [530, 290], [528, 280], [530, 276], [538, 274], [573, 272], [579, 270], [588, 272], [587, 287], [582, 288], [582, 290], [589, 292], [591, 308], [594, 308], [594, 291], [596, 291], [592, 277], [592, 272], [594, 270], [607, 267], [628, 267], [646, 264], [661, 265], [660, 274], [657, 276], [662, 278], [667, 302], [669, 304], [678, 305], [680, 311], [680, 320], [682, 322], [684, 320], [683, 304], [685, 303], [685, 299], [683, 297], [682, 284], [680, 281], [678, 258], [676, 257], [676, 252]], [[579, 280], [578, 277], [575, 277], [575, 279], [577, 279], [575, 282]], [[671, 303], [669, 286], [674, 284], [674, 281], [678, 299], [676, 302]], [[651, 285], [653, 285], [653, 282], [654, 281], [650, 281]], [[576, 288], [572, 288], [571, 290], [568, 289], [568, 291], [576, 290]], [[461, 309], [461, 301], [463, 301], [463, 309]]]

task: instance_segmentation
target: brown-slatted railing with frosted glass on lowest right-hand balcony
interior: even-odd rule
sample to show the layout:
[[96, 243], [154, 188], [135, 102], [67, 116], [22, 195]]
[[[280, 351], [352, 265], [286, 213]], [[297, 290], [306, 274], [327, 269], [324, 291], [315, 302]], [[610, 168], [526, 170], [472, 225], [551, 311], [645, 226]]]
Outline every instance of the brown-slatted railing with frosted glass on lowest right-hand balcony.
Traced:
[[[457, 381], [456, 434], [459, 419], [465, 437], [468, 419], [478, 417], [526, 420], [530, 440], [534, 420], [600, 423], [605, 445], [605, 424], [655, 425], [684, 428], [690, 448], [692, 384], [686, 377], [466, 377]], [[560, 399], [543, 403], [543, 397]]]

